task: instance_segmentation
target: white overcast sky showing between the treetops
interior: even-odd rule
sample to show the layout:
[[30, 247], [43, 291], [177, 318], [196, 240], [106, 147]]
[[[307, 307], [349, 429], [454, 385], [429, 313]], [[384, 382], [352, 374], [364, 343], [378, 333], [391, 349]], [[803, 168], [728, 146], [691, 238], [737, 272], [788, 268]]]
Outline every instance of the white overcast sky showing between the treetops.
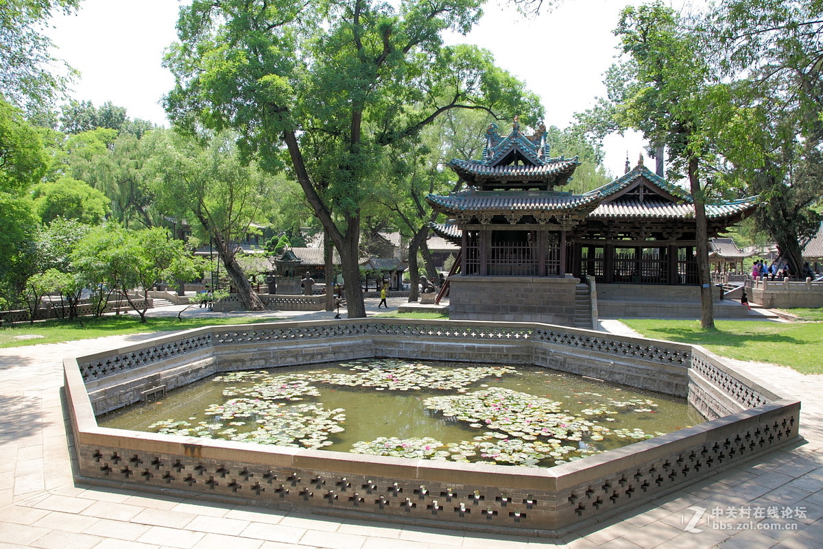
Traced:
[[[669, 0], [675, 9], [687, 1]], [[575, 112], [606, 94], [603, 74], [615, 62], [617, 45], [611, 30], [625, 5], [639, 3], [564, 0], [551, 12], [527, 19], [514, 7], [492, 2], [469, 35], [448, 41], [490, 50], [499, 67], [540, 95], [546, 125], [562, 128]], [[54, 56], [81, 73], [72, 98], [95, 106], [111, 101], [127, 108], [131, 118], [168, 126], [160, 99], [174, 81], [161, 62], [164, 49], [176, 39], [179, 6], [178, 0], [83, 0], [76, 15], [54, 17], [48, 32], [56, 45]], [[626, 156], [634, 165], [643, 146], [636, 134], [607, 138], [605, 167], [621, 175]]]

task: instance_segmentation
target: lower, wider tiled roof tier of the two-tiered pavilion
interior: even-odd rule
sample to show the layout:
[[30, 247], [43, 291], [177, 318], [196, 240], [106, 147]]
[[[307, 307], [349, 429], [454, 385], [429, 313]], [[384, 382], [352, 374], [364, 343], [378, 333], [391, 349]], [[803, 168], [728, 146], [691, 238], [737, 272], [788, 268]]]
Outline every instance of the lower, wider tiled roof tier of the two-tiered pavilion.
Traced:
[[454, 212], [528, 212], [574, 210], [596, 204], [599, 197], [568, 192], [461, 191], [449, 196], [429, 195], [426, 200], [432, 205]]

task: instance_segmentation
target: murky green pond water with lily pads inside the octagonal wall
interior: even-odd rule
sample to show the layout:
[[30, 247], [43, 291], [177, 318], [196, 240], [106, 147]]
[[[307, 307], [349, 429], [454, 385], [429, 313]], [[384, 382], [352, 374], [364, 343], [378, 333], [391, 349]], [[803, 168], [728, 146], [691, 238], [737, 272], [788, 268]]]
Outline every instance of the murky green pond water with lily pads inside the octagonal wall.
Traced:
[[703, 421], [685, 399], [546, 368], [388, 358], [224, 373], [98, 418], [134, 431], [527, 466]]

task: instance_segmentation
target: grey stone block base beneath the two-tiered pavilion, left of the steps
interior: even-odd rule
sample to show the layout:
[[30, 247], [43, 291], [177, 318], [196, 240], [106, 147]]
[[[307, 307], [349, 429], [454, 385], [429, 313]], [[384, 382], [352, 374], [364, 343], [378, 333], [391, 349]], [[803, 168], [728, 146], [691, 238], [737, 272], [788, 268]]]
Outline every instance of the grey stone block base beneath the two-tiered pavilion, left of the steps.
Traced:
[[449, 318], [461, 321], [545, 322], [574, 325], [579, 279], [530, 276], [453, 276]]

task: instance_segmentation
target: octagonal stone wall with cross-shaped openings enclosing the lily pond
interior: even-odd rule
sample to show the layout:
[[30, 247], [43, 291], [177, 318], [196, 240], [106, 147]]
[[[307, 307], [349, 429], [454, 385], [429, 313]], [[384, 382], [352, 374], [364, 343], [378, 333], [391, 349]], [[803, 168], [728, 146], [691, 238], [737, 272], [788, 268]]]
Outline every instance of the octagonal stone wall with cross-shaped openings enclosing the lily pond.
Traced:
[[[95, 411], [182, 384], [186, 376], [371, 356], [553, 367], [688, 394], [709, 417], [724, 417], [552, 468], [130, 433], [95, 421]], [[704, 349], [527, 323], [355, 319], [215, 326], [66, 359], [64, 371], [84, 482], [528, 535], [592, 524], [778, 448], [797, 438], [799, 420], [799, 403], [747, 380]]]

